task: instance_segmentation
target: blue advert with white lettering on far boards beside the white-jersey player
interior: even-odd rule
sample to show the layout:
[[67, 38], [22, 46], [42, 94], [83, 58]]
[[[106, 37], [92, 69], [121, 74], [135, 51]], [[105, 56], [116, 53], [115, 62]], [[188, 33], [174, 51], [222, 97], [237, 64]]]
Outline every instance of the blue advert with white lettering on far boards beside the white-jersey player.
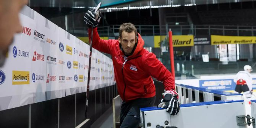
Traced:
[[[208, 79], [208, 80], [199, 80], [199, 87], [230, 91], [235, 90], [236, 83], [233, 79]], [[253, 89], [256, 89], [256, 78], [253, 78]]]

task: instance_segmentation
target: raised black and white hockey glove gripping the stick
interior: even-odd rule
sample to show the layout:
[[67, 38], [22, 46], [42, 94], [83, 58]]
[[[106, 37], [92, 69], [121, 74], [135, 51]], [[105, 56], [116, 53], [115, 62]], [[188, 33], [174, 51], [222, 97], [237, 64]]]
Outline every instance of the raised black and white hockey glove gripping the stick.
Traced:
[[100, 10], [97, 10], [96, 14], [94, 13], [95, 13], [95, 9], [90, 9], [84, 15], [84, 21], [86, 22], [89, 28], [91, 28], [92, 26], [93, 28], [97, 27], [98, 23], [100, 22], [100, 15], [101, 15]]

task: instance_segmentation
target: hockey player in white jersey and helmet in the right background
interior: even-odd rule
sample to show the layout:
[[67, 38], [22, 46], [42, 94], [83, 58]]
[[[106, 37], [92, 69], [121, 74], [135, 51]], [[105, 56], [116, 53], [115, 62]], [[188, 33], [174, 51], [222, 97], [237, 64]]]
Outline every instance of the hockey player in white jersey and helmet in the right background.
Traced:
[[239, 71], [235, 76], [234, 82], [237, 84], [235, 92], [243, 92], [246, 98], [250, 98], [253, 94], [253, 78], [250, 73], [253, 70], [250, 65], [245, 65], [243, 68], [245, 71]]

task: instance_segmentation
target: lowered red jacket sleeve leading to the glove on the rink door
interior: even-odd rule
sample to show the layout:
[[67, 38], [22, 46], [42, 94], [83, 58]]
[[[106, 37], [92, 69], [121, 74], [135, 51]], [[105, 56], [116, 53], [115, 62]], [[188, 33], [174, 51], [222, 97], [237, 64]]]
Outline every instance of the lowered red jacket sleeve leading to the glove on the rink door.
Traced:
[[144, 61], [144, 71], [156, 78], [158, 81], [163, 81], [165, 90], [175, 90], [175, 82], [169, 70], [161, 63], [154, 53], [149, 53]]

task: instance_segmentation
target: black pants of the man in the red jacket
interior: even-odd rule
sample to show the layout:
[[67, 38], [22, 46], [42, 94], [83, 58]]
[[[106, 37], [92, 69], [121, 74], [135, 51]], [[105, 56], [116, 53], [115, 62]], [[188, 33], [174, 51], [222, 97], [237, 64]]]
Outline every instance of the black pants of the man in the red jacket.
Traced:
[[121, 106], [120, 128], [138, 128], [140, 123], [139, 109], [152, 107], [156, 96], [150, 98], [138, 98], [130, 102], [124, 102]]

